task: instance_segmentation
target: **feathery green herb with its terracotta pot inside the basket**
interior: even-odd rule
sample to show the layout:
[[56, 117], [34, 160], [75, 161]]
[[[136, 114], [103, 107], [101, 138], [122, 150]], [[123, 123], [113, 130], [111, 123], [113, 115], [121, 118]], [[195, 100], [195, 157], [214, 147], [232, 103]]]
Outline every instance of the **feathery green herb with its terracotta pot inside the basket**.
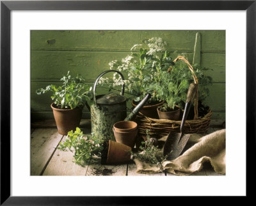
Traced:
[[[201, 68], [194, 65], [195, 75], [199, 82], [198, 99], [200, 107], [203, 107], [202, 102], [209, 96], [208, 85], [212, 84], [212, 78], [204, 74], [207, 68]], [[182, 61], [176, 62], [168, 71], [161, 70], [160, 78], [157, 84], [154, 84], [154, 90], [159, 99], [164, 99], [166, 104], [157, 108], [159, 119], [170, 119], [174, 121], [180, 120], [180, 112], [186, 101], [186, 95], [189, 84], [193, 82], [188, 65]], [[190, 110], [193, 113], [193, 110]], [[194, 114], [190, 114], [193, 119]], [[203, 115], [204, 116], [204, 115]]]

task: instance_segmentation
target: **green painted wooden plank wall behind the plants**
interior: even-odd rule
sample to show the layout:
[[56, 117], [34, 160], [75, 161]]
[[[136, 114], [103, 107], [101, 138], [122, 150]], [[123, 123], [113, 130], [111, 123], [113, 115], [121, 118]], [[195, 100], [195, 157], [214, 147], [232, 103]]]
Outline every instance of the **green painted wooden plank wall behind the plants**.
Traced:
[[[200, 33], [195, 48], [196, 33]], [[189, 62], [199, 61], [211, 68], [213, 78], [207, 105], [212, 119], [225, 119], [225, 31], [31, 31], [31, 121], [52, 119], [51, 94], [38, 96], [35, 91], [49, 84], [59, 84], [70, 70], [80, 73], [92, 85], [108, 63], [130, 54], [130, 48], [141, 40], [161, 37], [167, 48], [177, 54], [188, 54]], [[99, 89], [100, 92], [107, 92]], [[84, 119], [90, 113], [84, 108]]]

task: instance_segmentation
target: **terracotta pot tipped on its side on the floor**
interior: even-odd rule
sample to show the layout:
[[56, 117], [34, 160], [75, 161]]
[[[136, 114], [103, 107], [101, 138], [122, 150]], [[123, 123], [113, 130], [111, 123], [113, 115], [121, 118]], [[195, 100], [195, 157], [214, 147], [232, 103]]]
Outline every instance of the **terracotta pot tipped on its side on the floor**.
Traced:
[[131, 160], [131, 147], [109, 140], [107, 164], [127, 163]]

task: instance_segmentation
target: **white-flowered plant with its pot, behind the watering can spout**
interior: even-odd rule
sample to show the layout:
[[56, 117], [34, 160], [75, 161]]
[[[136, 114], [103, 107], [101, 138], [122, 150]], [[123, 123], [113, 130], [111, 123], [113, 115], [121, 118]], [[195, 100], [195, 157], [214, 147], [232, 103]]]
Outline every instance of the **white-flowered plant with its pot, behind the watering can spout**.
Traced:
[[[111, 61], [110, 70], [122, 71], [128, 79], [122, 81], [116, 73], [113, 76], [113, 85], [125, 84], [126, 92], [136, 96], [132, 99], [132, 106], [136, 107], [145, 94], [150, 93], [151, 98], [140, 112], [148, 117], [157, 118], [157, 107], [164, 101], [159, 99], [156, 91], [152, 90], [152, 84], [159, 82], [160, 70], [168, 70], [173, 65], [172, 58], [166, 52], [161, 38], [143, 40], [141, 44], [133, 45], [131, 54], [122, 61]], [[101, 83], [109, 83], [109, 79], [102, 79]]]

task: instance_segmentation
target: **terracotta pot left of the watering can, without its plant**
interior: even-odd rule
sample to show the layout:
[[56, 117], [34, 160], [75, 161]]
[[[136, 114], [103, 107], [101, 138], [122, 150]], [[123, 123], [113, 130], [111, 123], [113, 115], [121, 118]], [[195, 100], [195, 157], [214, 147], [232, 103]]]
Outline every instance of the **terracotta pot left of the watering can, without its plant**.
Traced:
[[58, 133], [67, 135], [68, 131], [76, 130], [79, 127], [83, 108], [60, 109], [55, 108], [54, 103], [51, 104], [54, 119], [56, 121]]

